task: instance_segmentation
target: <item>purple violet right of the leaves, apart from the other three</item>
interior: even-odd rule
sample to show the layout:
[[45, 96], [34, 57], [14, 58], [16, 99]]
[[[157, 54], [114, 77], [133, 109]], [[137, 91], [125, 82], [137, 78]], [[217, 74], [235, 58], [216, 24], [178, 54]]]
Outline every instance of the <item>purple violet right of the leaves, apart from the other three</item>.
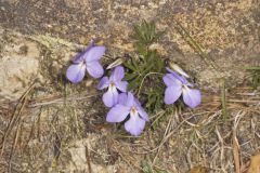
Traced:
[[167, 68], [168, 72], [164, 77], [164, 82], [166, 84], [165, 91], [165, 103], [173, 104], [181, 95], [184, 103], [191, 107], [195, 108], [202, 102], [202, 94], [199, 90], [191, 89], [194, 83], [188, 82], [184, 77], [178, 75], [171, 69]]

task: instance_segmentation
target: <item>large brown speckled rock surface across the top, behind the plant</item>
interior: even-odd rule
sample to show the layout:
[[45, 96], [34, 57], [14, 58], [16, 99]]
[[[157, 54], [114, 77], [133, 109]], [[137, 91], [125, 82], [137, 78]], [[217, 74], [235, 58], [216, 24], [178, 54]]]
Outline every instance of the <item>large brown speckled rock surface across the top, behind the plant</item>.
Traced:
[[[259, 1], [47, 0], [28, 4], [24, 0], [15, 0], [15, 3], [5, 0], [0, 4], [0, 24], [6, 28], [30, 35], [52, 34], [83, 44], [90, 39], [102, 40], [108, 52], [115, 49], [120, 50], [120, 54], [134, 51], [129, 37], [134, 23], [143, 18], [156, 21], [158, 27], [166, 30], [158, 42], [159, 52], [179, 62], [198, 78], [199, 85], [211, 90], [220, 77], [234, 86], [243, 83], [246, 77], [243, 67], [259, 65]], [[202, 45], [220, 67], [218, 71], [205, 64], [188, 45], [174, 28], [174, 21]], [[210, 79], [205, 76], [208, 71]]]

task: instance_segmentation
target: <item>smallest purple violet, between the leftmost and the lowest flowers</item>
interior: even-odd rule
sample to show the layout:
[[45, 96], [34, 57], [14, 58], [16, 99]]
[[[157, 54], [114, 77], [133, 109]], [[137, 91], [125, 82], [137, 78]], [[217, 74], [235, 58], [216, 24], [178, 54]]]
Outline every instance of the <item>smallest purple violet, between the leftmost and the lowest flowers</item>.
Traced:
[[112, 72], [110, 77], [103, 77], [98, 84], [99, 90], [108, 88], [107, 92], [103, 95], [103, 103], [107, 107], [113, 107], [118, 103], [118, 90], [127, 92], [128, 82], [121, 81], [125, 77], [123, 67], [117, 66]]

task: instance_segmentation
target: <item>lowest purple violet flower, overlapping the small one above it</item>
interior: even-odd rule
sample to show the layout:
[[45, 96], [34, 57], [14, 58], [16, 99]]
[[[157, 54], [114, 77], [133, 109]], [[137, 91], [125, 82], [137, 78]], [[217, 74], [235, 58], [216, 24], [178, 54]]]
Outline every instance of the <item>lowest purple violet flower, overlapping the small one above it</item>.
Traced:
[[140, 135], [148, 121], [148, 115], [131, 92], [119, 94], [118, 104], [108, 111], [106, 121], [122, 122], [128, 115], [130, 118], [125, 123], [125, 129], [134, 136]]

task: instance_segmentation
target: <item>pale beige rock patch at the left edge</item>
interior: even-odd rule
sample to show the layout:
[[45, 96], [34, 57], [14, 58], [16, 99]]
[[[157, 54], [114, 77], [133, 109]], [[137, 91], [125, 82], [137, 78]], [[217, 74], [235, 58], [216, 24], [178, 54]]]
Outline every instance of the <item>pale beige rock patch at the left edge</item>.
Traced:
[[37, 78], [40, 52], [35, 42], [21, 35], [5, 32], [0, 40], [0, 101], [16, 101]]

